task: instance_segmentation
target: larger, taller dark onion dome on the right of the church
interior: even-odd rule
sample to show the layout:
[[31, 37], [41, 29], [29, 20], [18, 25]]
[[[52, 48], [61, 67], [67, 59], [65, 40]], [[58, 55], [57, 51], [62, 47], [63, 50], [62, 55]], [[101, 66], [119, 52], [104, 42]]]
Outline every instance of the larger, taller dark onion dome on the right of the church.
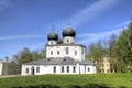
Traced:
[[75, 37], [76, 32], [70, 26], [67, 26], [66, 29], [64, 29], [62, 34], [63, 34], [63, 37], [65, 37], [65, 36], [73, 36], [73, 37]]

